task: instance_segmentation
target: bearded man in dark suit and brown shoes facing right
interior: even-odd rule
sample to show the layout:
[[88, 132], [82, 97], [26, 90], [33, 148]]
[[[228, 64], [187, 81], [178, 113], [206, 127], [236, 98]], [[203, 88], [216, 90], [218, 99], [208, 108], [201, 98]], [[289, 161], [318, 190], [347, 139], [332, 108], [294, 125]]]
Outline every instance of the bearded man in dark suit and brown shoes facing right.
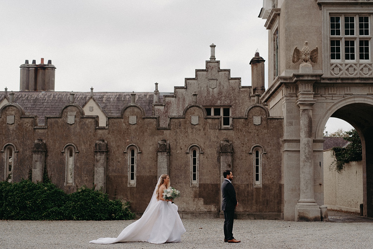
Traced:
[[225, 170], [223, 172], [224, 181], [222, 183], [222, 193], [223, 193], [223, 202], [222, 210], [224, 212], [224, 242], [228, 243], [238, 243], [241, 240], [236, 240], [233, 237], [233, 217], [234, 209], [238, 205], [236, 199], [236, 191], [232, 185], [233, 174], [232, 170]]

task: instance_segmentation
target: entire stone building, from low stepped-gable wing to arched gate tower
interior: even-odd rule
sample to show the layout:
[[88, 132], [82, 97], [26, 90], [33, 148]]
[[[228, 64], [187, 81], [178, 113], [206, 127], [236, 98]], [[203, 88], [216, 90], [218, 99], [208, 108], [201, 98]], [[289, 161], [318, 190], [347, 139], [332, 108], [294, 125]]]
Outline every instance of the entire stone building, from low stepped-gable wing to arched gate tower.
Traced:
[[[102, 187], [144, 211], [157, 177], [181, 190], [184, 217], [218, 217], [222, 172], [232, 168], [241, 218], [320, 221], [323, 130], [349, 122], [363, 146], [363, 210], [373, 217], [373, 0], [264, 0], [264, 60], [251, 60], [252, 86], [206, 69], [173, 93], [54, 92], [54, 69], [21, 65], [19, 92], [0, 92], [0, 170], [32, 173], [72, 192]], [[139, 196], [141, 198], [139, 198]]]

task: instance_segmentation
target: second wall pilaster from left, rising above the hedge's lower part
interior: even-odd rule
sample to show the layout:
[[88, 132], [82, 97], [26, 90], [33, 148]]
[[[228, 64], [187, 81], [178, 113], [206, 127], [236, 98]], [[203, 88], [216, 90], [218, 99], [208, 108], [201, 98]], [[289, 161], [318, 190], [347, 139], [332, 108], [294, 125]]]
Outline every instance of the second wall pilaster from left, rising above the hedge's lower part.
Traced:
[[101, 189], [106, 193], [106, 159], [107, 142], [100, 139], [95, 142], [94, 150], [94, 185], [95, 189]]

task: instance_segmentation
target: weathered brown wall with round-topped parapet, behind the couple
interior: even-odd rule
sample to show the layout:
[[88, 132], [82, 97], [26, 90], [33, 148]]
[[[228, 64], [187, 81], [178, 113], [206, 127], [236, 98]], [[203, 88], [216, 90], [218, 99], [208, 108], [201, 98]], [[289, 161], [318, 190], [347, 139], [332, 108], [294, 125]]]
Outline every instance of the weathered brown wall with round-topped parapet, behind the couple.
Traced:
[[[244, 110], [248, 106], [242, 107]], [[68, 115], [75, 113], [73, 123]], [[15, 123], [7, 124], [6, 116], [15, 114]], [[181, 212], [220, 212], [220, 144], [225, 139], [233, 145], [233, 183], [240, 205], [237, 212], [282, 212], [281, 142], [282, 119], [267, 117], [265, 107], [253, 105], [247, 116], [233, 117], [232, 127], [219, 129], [220, 119], [206, 117], [201, 105], [191, 105], [185, 116], [172, 117], [169, 129], [159, 129], [156, 117], [144, 117], [141, 107], [130, 105], [122, 116], [109, 117], [106, 129], [96, 128], [97, 118], [84, 116], [77, 105], [67, 105], [58, 117], [47, 117], [46, 126], [34, 127], [34, 117], [20, 117], [14, 106], [3, 108], [0, 118], [1, 144], [12, 142], [17, 146], [13, 181], [28, 178], [32, 166], [31, 150], [38, 138], [46, 143], [46, 169], [53, 183], [66, 192], [94, 183], [95, 142], [107, 142], [106, 191], [110, 197], [131, 201], [134, 211], [144, 211], [157, 182], [157, 144], [162, 139], [169, 143], [169, 175], [172, 186], [181, 190], [177, 200]], [[133, 124], [133, 116], [136, 122]], [[198, 116], [192, 124], [191, 116]], [[260, 124], [253, 123], [260, 116]], [[132, 124], [129, 122], [132, 119]], [[253, 187], [254, 145], [263, 146], [263, 186]], [[73, 185], [66, 184], [66, 145], [74, 145]], [[136, 145], [136, 187], [128, 186], [127, 146]], [[190, 154], [188, 148], [198, 145], [198, 187], [190, 184]], [[4, 155], [4, 153], [3, 153]], [[1, 170], [4, 172], [4, 158]], [[19, 166], [22, 166], [20, 168]]]

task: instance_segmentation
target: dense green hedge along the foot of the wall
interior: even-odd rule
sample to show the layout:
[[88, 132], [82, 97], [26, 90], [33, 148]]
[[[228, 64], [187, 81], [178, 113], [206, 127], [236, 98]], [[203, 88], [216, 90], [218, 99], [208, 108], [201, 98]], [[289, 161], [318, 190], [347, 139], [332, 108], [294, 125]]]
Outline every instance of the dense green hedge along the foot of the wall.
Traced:
[[0, 182], [0, 220], [130, 220], [129, 202], [100, 190], [66, 194], [52, 183]]

